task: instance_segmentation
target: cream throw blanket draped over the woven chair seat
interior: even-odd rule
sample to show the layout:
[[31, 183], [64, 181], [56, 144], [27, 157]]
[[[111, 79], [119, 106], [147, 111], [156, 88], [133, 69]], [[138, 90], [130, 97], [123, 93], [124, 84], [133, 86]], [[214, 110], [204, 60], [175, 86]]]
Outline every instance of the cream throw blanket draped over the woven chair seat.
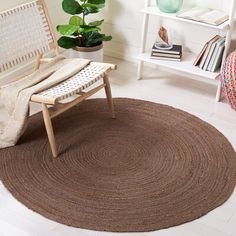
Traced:
[[84, 59], [65, 59], [60, 55], [33, 74], [0, 87], [0, 106], [4, 106], [9, 114], [8, 121], [0, 123], [0, 148], [14, 146], [23, 134], [33, 94], [68, 79], [89, 62]]

